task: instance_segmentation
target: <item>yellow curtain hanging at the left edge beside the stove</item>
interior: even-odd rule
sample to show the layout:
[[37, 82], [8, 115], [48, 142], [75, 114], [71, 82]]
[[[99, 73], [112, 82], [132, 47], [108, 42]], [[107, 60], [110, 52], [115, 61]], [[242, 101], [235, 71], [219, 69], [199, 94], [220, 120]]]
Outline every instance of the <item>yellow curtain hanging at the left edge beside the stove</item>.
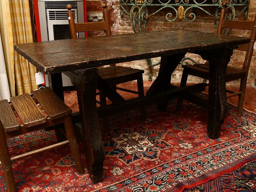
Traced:
[[[0, 32], [11, 95], [37, 89], [36, 68], [13, 50], [14, 44], [33, 42], [29, 0], [0, 0]], [[3, 34], [3, 35], [2, 35]]]

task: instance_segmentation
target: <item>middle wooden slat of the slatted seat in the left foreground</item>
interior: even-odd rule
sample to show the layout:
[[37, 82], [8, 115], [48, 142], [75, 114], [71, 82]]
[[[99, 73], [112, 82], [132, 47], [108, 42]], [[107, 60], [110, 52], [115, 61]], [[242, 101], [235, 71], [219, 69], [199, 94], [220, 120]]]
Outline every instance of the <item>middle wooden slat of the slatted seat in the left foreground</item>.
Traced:
[[46, 122], [46, 116], [28, 93], [10, 98], [25, 127]]

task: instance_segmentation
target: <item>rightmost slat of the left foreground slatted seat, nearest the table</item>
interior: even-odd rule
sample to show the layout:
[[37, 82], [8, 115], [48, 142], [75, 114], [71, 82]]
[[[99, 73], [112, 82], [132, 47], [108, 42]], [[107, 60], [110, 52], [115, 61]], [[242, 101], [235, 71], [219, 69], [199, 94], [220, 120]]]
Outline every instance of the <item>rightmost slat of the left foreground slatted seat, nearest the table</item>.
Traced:
[[50, 119], [57, 119], [72, 113], [71, 109], [49, 88], [32, 92]]

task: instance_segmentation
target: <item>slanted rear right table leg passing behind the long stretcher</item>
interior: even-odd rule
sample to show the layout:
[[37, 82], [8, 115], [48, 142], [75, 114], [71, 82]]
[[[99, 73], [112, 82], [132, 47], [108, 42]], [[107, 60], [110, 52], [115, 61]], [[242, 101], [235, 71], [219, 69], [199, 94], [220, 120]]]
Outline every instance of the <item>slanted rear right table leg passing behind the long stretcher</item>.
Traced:
[[[168, 90], [171, 83], [172, 73], [180, 63], [185, 54], [171, 55], [161, 58], [160, 69], [157, 78], [154, 80], [151, 87], [148, 89], [147, 96], [155, 96], [158, 93]], [[158, 110], [165, 111], [167, 102], [159, 103]]]

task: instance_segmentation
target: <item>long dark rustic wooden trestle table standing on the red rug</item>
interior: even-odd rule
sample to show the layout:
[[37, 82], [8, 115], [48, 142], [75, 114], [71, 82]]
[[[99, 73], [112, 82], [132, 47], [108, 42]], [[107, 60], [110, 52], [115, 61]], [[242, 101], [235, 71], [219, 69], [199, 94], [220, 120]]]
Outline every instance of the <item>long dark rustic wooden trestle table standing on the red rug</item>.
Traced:
[[[70, 77], [77, 89], [88, 173], [97, 183], [102, 181], [104, 160], [98, 114], [113, 114], [153, 103], [164, 110], [168, 99], [186, 90], [202, 91], [202, 84], [185, 88], [170, 84], [180, 60], [186, 52], [193, 52], [210, 64], [207, 132], [209, 138], [216, 139], [227, 116], [224, 81], [227, 64], [234, 46], [249, 41], [248, 38], [180, 30], [18, 44], [15, 50], [42, 72], [50, 74], [49, 83], [62, 99], [61, 72], [82, 69], [80, 76]], [[161, 57], [160, 71], [143, 99], [124, 101], [98, 76], [96, 67], [153, 57]], [[96, 89], [115, 105], [97, 109]]]

